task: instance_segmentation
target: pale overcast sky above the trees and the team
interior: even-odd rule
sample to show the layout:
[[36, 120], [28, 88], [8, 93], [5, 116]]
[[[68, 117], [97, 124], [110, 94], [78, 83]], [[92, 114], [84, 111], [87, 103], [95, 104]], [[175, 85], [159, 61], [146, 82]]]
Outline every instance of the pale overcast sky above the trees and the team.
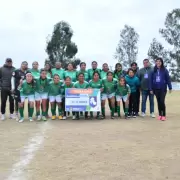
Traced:
[[167, 12], [180, 7], [180, 0], [1, 0], [0, 66], [11, 57], [15, 66], [21, 61], [38, 61], [42, 67], [47, 54], [46, 37], [55, 23], [70, 23], [78, 45], [76, 55], [90, 64], [96, 60], [110, 65], [119, 41], [120, 29], [131, 25], [140, 35], [138, 62], [147, 57], [155, 37], [161, 42]]

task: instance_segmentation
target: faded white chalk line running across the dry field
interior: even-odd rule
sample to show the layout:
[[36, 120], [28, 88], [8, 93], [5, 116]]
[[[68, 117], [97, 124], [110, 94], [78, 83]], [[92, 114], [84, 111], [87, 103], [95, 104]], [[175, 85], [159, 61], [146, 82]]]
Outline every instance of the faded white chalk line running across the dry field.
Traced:
[[40, 132], [31, 137], [28, 144], [23, 147], [20, 154], [20, 160], [12, 166], [12, 172], [7, 180], [26, 180], [24, 176], [24, 169], [30, 164], [44, 141], [44, 132], [47, 130], [48, 124], [43, 124]]

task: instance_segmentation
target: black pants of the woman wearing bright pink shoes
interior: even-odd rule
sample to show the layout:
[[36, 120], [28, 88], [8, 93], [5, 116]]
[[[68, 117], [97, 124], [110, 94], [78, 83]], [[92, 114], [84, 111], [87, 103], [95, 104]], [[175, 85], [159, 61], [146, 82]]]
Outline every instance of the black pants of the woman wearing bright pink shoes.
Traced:
[[167, 93], [166, 90], [162, 90], [162, 89], [154, 90], [154, 94], [156, 96], [158, 103], [159, 116], [166, 116], [166, 105], [165, 105], [166, 93]]

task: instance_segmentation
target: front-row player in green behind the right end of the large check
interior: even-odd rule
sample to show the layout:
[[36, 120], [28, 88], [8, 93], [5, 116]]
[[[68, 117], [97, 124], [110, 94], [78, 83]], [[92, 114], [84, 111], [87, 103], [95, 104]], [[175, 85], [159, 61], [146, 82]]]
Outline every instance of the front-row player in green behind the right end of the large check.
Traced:
[[[92, 89], [100, 89], [100, 91], [103, 91], [103, 84], [102, 84], [102, 80], [99, 79], [100, 75], [98, 72], [94, 72], [93, 73], [93, 79], [89, 82], [89, 87]], [[90, 112], [90, 116], [91, 118], [93, 118], [93, 112]], [[97, 116], [96, 119], [100, 118], [100, 112], [97, 112]]]

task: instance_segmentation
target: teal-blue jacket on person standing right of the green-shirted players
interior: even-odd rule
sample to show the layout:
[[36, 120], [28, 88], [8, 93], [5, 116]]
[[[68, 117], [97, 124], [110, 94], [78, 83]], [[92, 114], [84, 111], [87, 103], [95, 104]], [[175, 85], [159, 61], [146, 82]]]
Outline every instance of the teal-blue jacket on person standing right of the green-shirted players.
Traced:
[[136, 75], [134, 77], [126, 75], [125, 79], [126, 83], [130, 86], [131, 93], [136, 92], [140, 85], [139, 78]]

